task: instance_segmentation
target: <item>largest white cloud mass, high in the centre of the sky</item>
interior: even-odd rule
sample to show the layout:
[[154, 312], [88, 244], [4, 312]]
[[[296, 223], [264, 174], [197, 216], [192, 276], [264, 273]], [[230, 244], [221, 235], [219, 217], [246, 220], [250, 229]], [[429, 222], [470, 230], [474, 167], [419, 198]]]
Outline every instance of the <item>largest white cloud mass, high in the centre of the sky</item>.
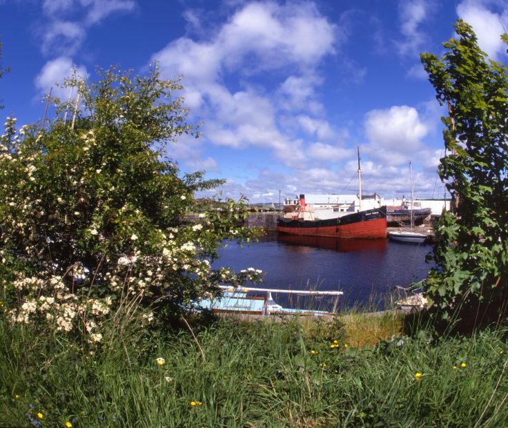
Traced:
[[[302, 140], [280, 131], [279, 109], [307, 108], [307, 101], [313, 101], [312, 111], [320, 110], [313, 99], [320, 81], [314, 70], [335, 52], [336, 38], [335, 25], [314, 3], [253, 2], [237, 9], [212, 37], [181, 37], [153, 60], [165, 77], [184, 75], [186, 105], [199, 110], [204, 135], [213, 144], [267, 148], [284, 164], [294, 165], [304, 159]], [[224, 76], [232, 73], [251, 77], [271, 70], [291, 70], [275, 95], [252, 87], [233, 92], [224, 84]], [[322, 121], [319, 133], [326, 132]]]

